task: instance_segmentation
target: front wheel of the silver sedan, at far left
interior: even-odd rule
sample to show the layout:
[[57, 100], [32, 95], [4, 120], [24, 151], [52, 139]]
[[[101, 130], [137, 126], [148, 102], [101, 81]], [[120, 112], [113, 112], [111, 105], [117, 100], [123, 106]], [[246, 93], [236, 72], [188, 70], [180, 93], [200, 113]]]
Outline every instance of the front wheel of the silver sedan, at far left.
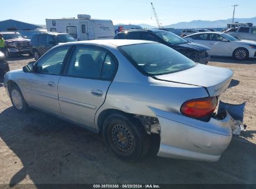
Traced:
[[[14, 94], [16, 93], [16, 94]], [[22, 112], [22, 113], [26, 113], [28, 106], [27, 106], [27, 103], [22, 95], [22, 92], [21, 90], [19, 89], [19, 86], [17, 85], [12, 85], [11, 86], [11, 89], [9, 90], [9, 94], [10, 94], [10, 98], [11, 98], [11, 102], [12, 102], [12, 106], [14, 106], [14, 108], [16, 108], [18, 111]], [[20, 105], [21, 106], [18, 106], [17, 105], [17, 99], [15, 97], [15, 95], [18, 95], [20, 96], [21, 98], [21, 103]]]

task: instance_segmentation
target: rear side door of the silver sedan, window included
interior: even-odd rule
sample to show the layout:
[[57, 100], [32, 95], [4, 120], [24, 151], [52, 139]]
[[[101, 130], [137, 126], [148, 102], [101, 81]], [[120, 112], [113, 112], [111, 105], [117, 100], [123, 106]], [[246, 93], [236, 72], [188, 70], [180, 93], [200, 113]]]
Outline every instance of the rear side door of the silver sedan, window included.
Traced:
[[116, 60], [104, 48], [77, 45], [58, 84], [65, 118], [95, 127], [95, 114], [104, 103], [116, 70]]

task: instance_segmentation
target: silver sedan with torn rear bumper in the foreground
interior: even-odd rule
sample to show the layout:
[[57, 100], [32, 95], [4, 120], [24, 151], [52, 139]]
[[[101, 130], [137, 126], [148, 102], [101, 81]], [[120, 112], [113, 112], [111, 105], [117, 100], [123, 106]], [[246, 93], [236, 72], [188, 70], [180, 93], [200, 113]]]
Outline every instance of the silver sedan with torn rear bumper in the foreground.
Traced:
[[216, 161], [238, 125], [214, 113], [232, 75], [156, 42], [91, 40], [57, 45], [6, 73], [4, 87], [17, 110], [99, 132], [121, 159], [141, 159], [156, 134], [161, 157]]

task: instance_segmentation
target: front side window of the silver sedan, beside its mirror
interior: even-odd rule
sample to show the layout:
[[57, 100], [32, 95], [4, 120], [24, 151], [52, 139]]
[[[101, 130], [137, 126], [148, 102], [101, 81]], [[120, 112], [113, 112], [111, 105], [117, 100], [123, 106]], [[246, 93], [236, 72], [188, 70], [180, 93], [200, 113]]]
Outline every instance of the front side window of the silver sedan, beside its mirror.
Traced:
[[59, 75], [69, 46], [55, 48], [37, 62], [37, 73]]

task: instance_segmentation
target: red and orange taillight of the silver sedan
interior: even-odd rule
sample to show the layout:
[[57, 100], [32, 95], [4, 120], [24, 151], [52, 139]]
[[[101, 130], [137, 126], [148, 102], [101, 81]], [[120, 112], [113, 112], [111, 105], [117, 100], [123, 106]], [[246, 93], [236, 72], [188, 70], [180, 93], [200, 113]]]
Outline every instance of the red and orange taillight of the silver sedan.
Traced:
[[181, 106], [181, 113], [191, 118], [202, 118], [214, 112], [217, 106], [217, 98], [197, 98], [186, 101]]

